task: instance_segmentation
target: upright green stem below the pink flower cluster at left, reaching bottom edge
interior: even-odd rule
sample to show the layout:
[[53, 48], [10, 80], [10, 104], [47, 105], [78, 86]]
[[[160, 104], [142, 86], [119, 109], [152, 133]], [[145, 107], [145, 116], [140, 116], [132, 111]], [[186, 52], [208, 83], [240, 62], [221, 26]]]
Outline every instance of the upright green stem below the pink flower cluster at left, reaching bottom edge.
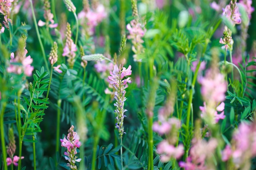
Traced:
[[[20, 95], [21, 95], [22, 91], [18, 91], [18, 126], [19, 126], [19, 130], [18, 130], [18, 135], [19, 135], [19, 157], [21, 158], [21, 151], [22, 151], [22, 136], [21, 136], [21, 117], [20, 117]], [[18, 170], [21, 170], [21, 159], [19, 159], [18, 161]]]

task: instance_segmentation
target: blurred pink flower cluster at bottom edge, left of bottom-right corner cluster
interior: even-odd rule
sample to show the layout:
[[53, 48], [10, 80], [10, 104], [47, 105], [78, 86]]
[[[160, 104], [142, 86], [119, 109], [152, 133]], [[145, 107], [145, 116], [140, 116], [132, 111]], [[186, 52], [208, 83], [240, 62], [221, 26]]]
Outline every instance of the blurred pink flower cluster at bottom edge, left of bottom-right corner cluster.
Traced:
[[193, 138], [192, 147], [186, 162], [179, 162], [179, 166], [185, 170], [210, 170], [205, 164], [207, 158], [212, 157], [218, 142], [212, 138], [208, 142], [203, 139]]

